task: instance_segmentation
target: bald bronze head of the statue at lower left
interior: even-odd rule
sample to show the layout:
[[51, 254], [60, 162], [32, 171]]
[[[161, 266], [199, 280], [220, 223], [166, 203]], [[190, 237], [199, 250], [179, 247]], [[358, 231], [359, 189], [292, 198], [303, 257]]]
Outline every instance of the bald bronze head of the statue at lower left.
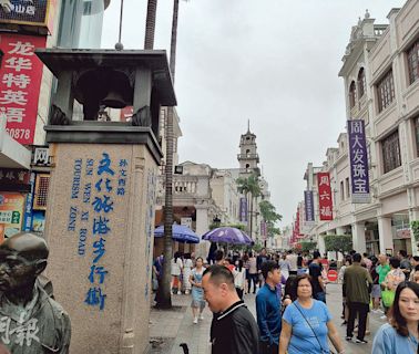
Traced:
[[49, 249], [43, 238], [17, 233], [0, 244], [0, 291], [17, 292], [34, 284], [47, 268]]

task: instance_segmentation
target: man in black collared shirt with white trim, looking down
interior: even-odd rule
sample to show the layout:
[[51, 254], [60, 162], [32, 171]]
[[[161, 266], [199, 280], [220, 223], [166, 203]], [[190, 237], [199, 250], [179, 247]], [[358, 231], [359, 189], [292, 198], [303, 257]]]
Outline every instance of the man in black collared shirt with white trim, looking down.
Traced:
[[211, 329], [212, 354], [258, 354], [258, 329], [252, 313], [241, 301], [232, 272], [211, 266], [202, 279], [205, 300], [214, 316]]

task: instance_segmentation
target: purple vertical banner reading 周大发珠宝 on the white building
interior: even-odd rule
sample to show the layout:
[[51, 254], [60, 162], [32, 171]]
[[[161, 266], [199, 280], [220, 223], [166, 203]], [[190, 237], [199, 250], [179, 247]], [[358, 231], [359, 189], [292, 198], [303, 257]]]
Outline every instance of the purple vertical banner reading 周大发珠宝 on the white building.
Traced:
[[370, 202], [367, 143], [365, 124], [361, 119], [348, 121], [350, 180], [352, 184], [351, 201]]

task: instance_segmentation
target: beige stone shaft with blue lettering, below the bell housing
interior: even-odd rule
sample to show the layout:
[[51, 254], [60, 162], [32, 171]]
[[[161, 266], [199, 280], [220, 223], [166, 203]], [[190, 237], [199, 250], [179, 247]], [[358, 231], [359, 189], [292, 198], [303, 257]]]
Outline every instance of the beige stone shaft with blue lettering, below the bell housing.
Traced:
[[47, 275], [71, 317], [70, 353], [143, 353], [156, 156], [146, 144], [53, 143], [50, 150]]

